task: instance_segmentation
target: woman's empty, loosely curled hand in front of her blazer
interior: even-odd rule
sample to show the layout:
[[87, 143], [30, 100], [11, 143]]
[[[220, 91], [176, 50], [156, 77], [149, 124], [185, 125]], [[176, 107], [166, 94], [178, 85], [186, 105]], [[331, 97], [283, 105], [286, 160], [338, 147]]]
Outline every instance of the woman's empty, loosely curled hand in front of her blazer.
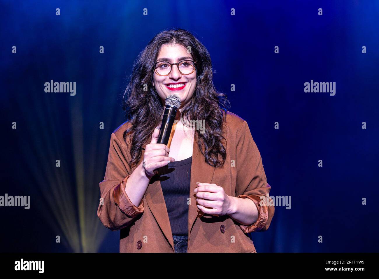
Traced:
[[232, 197], [224, 188], [216, 184], [197, 183], [195, 188], [197, 208], [211, 215], [226, 215], [232, 213]]

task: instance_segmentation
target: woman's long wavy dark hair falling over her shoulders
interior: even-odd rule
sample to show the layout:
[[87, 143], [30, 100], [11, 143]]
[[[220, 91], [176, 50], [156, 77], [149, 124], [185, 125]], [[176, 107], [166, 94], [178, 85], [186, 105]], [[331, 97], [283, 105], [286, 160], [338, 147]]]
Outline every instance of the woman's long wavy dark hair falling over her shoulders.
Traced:
[[129, 144], [127, 137], [130, 135], [129, 141], [131, 140], [132, 144], [130, 166], [135, 166], [139, 162], [142, 146], [150, 142], [154, 128], [161, 124], [163, 104], [152, 86], [152, 80], [153, 67], [163, 44], [179, 44], [186, 49], [188, 46], [191, 47], [191, 54], [197, 61], [196, 88], [192, 98], [181, 110], [181, 117], [205, 120], [204, 133], [196, 130], [194, 139], [205, 161], [211, 166], [221, 167], [226, 159], [223, 125], [230, 103], [226, 95], [217, 92], [213, 85], [212, 63], [208, 50], [192, 33], [181, 28], [164, 30], [155, 35], [133, 64], [130, 82], [122, 96], [122, 108], [132, 124], [123, 135], [127, 145]]

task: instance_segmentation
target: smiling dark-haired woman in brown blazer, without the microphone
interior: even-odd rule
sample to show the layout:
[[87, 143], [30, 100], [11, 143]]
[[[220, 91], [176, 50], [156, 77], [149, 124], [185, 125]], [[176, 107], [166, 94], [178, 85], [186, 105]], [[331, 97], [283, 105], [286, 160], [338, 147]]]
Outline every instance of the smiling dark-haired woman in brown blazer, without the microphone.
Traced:
[[[166, 146], [157, 138], [173, 93], [182, 102]], [[120, 252], [256, 252], [247, 234], [268, 229], [271, 187], [246, 121], [226, 104], [188, 31], [163, 31], [140, 53], [124, 93], [129, 121], [111, 135], [99, 184], [97, 215], [121, 230]]]

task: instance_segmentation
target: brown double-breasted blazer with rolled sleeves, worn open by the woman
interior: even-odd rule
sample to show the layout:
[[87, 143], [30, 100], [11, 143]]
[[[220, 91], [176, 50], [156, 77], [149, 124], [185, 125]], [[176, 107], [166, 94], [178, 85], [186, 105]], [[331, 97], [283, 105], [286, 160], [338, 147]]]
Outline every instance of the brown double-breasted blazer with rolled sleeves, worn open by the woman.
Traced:
[[[129, 167], [130, 150], [122, 137], [128, 127], [130, 122], [125, 122], [111, 135], [105, 176], [99, 184], [102, 199], [97, 216], [108, 229], [121, 230], [120, 252], [175, 252], [160, 181], [155, 177], [150, 180], [138, 207], [125, 193], [126, 181], [135, 169]], [[271, 187], [247, 122], [228, 111], [226, 127], [226, 161], [222, 168], [208, 165], [194, 141], [187, 252], [256, 252], [247, 234], [267, 230], [274, 216], [273, 205], [260, 204], [260, 197], [269, 194]], [[139, 163], [142, 160], [143, 156]], [[257, 221], [245, 226], [228, 215], [200, 212], [193, 191], [196, 182], [215, 183], [229, 196], [251, 199], [258, 208]]]

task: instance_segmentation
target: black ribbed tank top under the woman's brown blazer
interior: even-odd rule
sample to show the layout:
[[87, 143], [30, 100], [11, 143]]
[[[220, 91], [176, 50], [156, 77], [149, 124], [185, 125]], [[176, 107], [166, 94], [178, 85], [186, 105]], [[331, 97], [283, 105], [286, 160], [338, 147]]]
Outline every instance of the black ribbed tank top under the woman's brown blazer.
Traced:
[[172, 235], [188, 235], [189, 183], [192, 156], [158, 169]]

